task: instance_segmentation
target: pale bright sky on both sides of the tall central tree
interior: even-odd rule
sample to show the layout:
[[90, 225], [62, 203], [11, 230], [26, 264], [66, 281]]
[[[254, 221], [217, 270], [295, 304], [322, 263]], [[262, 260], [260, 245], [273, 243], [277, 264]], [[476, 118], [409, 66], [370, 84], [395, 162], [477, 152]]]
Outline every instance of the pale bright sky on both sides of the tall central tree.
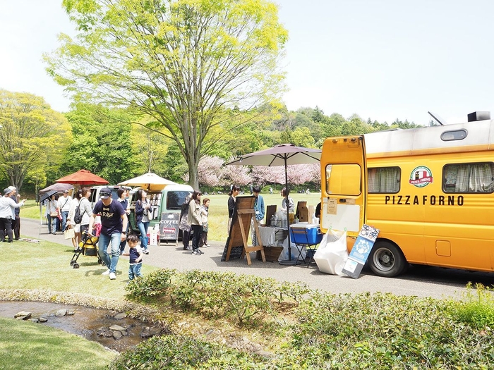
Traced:
[[[291, 110], [319, 106], [418, 124], [427, 111], [448, 123], [472, 111], [494, 116], [494, 1], [278, 0], [289, 30], [283, 69]], [[42, 53], [72, 32], [61, 0], [0, 0], [0, 88], [40, 95], [57, 111], [69, 100]]]

